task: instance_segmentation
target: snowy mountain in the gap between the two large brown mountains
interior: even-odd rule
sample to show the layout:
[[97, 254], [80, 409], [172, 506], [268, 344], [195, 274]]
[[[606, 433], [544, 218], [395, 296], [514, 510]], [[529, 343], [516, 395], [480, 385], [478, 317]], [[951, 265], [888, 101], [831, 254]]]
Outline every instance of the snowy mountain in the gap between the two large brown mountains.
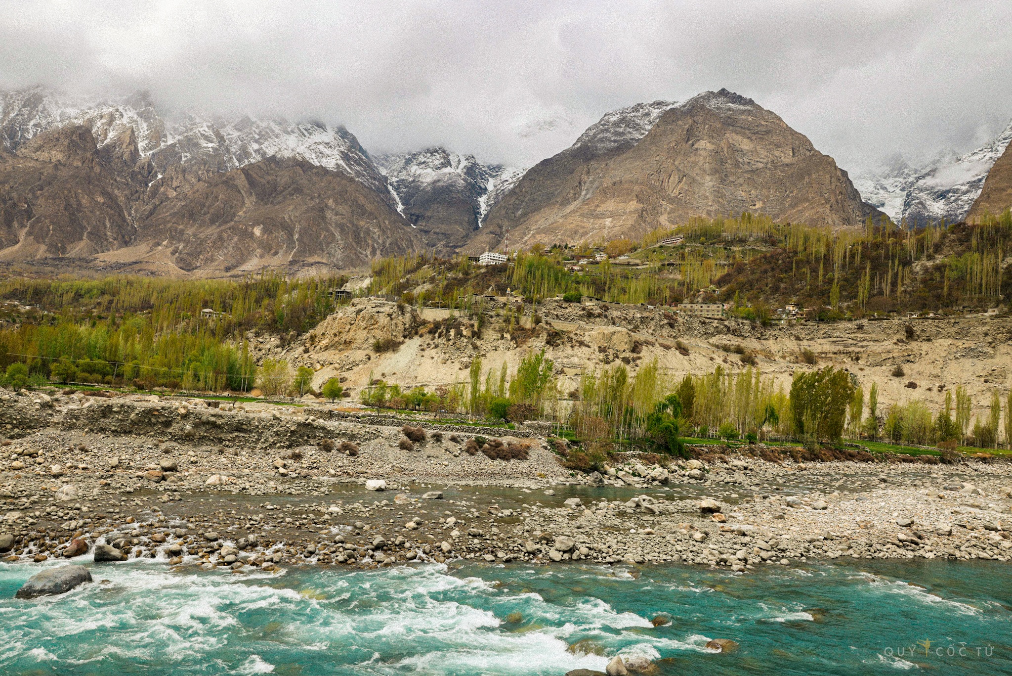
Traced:
[[423, 199], [431, 199], [436, 194], [452, 194], [472, 205], [479, 227], [489, 210], [525, 171], [501, 164], [482, 164], [474, 155], [459, 155], [439, 147], [377, 155], [373, 159], [387, 176], [406, 216]]

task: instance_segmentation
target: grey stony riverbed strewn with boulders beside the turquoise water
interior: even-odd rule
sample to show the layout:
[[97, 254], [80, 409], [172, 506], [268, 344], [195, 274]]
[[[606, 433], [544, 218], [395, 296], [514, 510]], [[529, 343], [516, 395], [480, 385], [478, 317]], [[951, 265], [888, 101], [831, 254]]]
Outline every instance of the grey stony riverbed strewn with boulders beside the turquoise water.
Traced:
[[462, 426], [81, 393], [0, 392], [0, 426], [6, 560], [160, 558], [237, 574], [682, 561], [746, 574], [840, 556], [1012, 553], [1012, 466], [1000, 461], [802, 463], [775, 448], [700, 447], [698, 459], [630, 454], [586, 475], [529, 432], [499, 431], [498, 447], [516, 451], [502, 460], [476, 451]]

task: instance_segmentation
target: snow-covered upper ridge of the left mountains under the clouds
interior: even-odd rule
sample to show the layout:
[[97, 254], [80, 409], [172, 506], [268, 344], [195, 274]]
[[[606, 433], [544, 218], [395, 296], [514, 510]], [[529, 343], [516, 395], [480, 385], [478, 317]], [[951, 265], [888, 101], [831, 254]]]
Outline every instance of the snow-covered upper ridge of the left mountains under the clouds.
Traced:
[[387, 180], [354, 135], [343, 127], [285, 120], [162, 118], [146, 92], [121, 97], [70, 95], [44, 86], [0, 92], [0, 143], [16, 151], [40, 132], [89, 127], [99, 147], [133, 128], [142, 157], [159, 171], [203, 161], [228, 171], [267, 157], [300, 158], [348, 174], [394, 202]]

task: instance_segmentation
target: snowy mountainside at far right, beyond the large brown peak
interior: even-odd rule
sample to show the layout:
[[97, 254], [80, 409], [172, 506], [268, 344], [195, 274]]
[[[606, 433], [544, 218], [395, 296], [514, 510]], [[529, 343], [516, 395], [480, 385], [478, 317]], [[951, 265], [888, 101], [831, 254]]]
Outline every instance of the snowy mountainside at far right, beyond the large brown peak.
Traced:
[[899, 222], [961, 221], [981, 194], [984, 179], [1012, 141], [1009, 123], [994, 141], [963, 155], [942, 151], [920, 166], [902, 158], [854, 179], [866, 202]]

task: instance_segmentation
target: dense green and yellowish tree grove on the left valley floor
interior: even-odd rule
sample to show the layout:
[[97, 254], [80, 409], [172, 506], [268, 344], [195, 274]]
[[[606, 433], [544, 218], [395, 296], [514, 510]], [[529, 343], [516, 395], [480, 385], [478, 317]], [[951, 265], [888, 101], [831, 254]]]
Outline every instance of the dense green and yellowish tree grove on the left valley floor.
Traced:
[[4, 307], [0, 367], [29, 378], [246, 391], [257, 385], [245, 333], [294, 335], [334, 309], [340, 279], [90, 281], [13, 279]]

